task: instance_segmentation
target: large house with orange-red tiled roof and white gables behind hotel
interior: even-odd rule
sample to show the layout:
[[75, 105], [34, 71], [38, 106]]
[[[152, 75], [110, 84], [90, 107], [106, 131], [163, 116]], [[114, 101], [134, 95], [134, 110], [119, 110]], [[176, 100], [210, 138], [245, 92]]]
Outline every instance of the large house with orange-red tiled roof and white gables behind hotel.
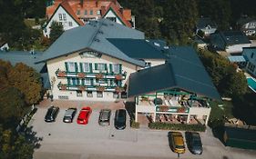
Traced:
[[68, 30], [79, 25], [85, 25], [89, 20], [107, 18], [120, 25], [135, 28], [135, 17], [130, 9], [123, 9], [117, 0], [56, 0], [46, 7], [48, 19], [44, 35], [49, 36], [53, 21], [64, 25]]

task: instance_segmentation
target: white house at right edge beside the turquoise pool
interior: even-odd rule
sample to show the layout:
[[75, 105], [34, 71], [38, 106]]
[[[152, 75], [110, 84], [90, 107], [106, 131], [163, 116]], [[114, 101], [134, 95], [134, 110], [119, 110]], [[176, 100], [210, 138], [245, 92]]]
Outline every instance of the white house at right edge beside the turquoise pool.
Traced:
[[243, 48], [242, 55], [247, 61], [247, 65], [245, 67], [246, 71], [251, 73], [251, 75], [256, 75], [256, 47]]

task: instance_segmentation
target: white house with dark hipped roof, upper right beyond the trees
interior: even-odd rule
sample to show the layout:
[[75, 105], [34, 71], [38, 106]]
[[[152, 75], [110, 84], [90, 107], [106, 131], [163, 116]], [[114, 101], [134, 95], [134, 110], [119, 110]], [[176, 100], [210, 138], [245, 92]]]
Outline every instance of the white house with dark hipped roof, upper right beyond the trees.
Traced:
[[210, 45], [216, 51], [241, 53], [242, 47], [250, 47], [251, 42], [241, 31], [225, 31], [210, 35]]

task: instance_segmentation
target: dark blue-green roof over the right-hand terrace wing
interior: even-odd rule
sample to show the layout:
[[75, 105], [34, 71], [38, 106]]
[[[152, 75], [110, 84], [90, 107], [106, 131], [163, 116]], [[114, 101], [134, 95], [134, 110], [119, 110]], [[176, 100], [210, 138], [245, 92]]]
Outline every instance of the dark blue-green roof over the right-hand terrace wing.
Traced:
[[[220, 100], [220, 94], [192, 48], [176, 47], [165, 65], [157, 65], [130, 75], [128, 96], [179, 88]], [[183, 52], [183, 51], [189, 52]]]

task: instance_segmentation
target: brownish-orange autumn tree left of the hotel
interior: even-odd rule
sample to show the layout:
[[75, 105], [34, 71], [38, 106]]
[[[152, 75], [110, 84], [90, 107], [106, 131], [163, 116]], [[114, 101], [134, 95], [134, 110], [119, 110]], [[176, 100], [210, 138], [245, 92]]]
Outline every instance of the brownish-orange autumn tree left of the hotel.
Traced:
[[9, 84], [25, 94], [27, 104], [36, 104], [41, 99], [40, 75], [31, 67], [18, 63], [8, 74]]

